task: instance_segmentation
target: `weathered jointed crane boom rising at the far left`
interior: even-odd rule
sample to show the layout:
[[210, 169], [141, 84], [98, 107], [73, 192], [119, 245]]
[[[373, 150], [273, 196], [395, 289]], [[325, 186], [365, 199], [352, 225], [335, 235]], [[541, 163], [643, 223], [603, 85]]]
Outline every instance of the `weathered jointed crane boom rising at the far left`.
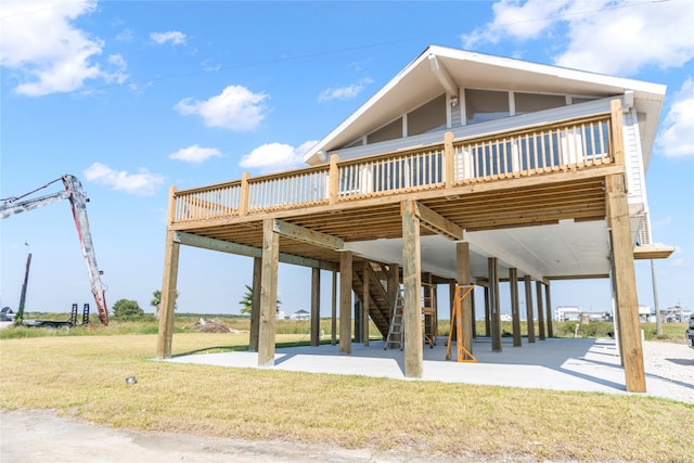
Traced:
[[[48, 194], [46, 196], [35, 197], [30, 200], [20, 201], [30, 194], [36, 193], [39, 190], [48, 188], [52, 183], [62, 180], [65, 185], [65, 191]], [[49, 204], [57, 203], [59, 201], [69, 200], [69, 204], [73, 208], [73, 217], [75, 219], [75, 226], [77, 227], [77, 235], [79, 237], [79, 244], [82, 248], [82, 256], [87, 263], [87, 273], [89, 274], [89, 282], [91, 284], [91, 292], [94, 295], [97, 301], [97, 308], [99, 309], [99, 319], [104, 325], [108, 324], [108, 308], [106, 307], [106, 297], [104, 294], [104, 285], [101, 282], [101, 272], [97, 266], [97, 256], [94, 255], [94, 245], [91, 241], [91, 233], [89, 231], [89, 221], [87, 220], [87, 202], [89, 200], [82, 193], [82, 184], [80, 181], [70, 175], [64, 175], [61, 178], [52, 180], [46, 183], [43, 187], [30, 191], [22, 196], [13, 196], [4, 200], [0, 200], [0, 218], [7, 219], [8, 217], [37, 209], [39, 207], [48, 206]]]

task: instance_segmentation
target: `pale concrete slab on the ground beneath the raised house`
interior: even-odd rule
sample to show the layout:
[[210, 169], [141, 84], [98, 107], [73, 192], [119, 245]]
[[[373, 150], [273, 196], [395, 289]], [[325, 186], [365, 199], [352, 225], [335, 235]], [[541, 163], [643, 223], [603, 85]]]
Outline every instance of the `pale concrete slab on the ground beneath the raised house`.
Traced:
[[[290, 347], [277, 349], [275, 370], [307, 373], [348, 374], [389, 377], [406, 381], [437, 381], [522, 388], [541, 388], [605, 394], [629, 394], [618, 348], [612, 339], [551, 338], [513, 347], [512, 339], [503, 339], [502, 351], [493, 352], [488, 338], [473, 343], [477, 362], [446, 361], [444, 338], [429, 348], [424, 346], [423, 375], [404, 376], [404, 356], [399, 349], [384, 349], [383, 342], [368, 347], [352, 343], [351, 355], [340, 355], [339, 346]], [[451, 355], [455, 359], [455, 346]], [[175, 363], [257, 369], [255, 352], [196, 353], [168, 359]], [[648, 374], [646, 395], [668, 397], [668, 378]]]

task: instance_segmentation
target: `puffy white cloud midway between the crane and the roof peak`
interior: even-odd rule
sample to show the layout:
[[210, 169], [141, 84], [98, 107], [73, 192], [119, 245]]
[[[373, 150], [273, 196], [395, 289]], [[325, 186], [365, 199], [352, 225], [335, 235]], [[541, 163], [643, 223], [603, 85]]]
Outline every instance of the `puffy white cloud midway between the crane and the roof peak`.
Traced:
[[208, 127], [234, 131], [253, 130], [265, 118], [265, 93], [253, 93], [242, 86], [229, 86], [217, 97], [198, 101], [187, 98], [174, 108], [184, 116], [198, 115]]

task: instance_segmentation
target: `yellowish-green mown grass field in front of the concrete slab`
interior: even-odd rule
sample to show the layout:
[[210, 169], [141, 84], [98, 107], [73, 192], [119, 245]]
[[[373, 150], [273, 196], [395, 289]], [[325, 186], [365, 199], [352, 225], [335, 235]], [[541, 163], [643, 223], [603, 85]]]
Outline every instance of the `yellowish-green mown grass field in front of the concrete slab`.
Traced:
[[[246, 333], [195, 333], [191, 321], [177, 321], [175, 355], [247, 345]], [[105, 329], [29, 334], [48, 334], [42, 337], [3, 333], [0, 408], [54, 409], [133, 429], [410, 449], [420, 456], [691, 461], [693, 406], [640, 396], [172, 364], [152, 359], [156, 334], [146, 334], [150, 324], [114, 321]], [[299, 333], [278, 334], [279, 343], [307, 340], [300, 325], [285, 329]], [[131, 375], [138, 384], [129, 386], [125, 378]]]

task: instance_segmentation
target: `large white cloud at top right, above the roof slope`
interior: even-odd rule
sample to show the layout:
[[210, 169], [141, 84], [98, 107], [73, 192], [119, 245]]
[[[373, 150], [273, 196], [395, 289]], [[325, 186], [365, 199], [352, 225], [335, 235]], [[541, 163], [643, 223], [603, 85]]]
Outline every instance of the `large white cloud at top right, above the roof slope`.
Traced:
[[464, 48], [507, 38], [556, 42], [562, 34], [566, 43], [557, 43], [555, 64], [617, 75], [646, 66], [680, 67], [694, 57], [694, 4], [689, 1], [502, 0], [493, 11], [491, 23], [461, 37]]

